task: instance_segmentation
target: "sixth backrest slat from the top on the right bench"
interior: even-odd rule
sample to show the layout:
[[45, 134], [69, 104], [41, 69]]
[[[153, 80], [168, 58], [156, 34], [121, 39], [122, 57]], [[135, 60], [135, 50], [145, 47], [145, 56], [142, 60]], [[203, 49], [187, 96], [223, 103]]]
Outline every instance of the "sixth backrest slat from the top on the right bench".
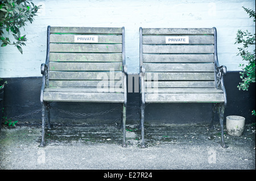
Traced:
[[214, 81], [214, 73], [146, 73], [145, 80], [159, 81]]

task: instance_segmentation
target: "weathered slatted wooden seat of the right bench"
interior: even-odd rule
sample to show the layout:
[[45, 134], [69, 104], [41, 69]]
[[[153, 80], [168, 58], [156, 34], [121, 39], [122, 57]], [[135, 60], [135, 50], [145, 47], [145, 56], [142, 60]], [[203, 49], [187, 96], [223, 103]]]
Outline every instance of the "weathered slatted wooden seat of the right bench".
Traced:
[[159, 88], [145, 91], [147, 103], [221, 103], [224, 92], [215, 88]]

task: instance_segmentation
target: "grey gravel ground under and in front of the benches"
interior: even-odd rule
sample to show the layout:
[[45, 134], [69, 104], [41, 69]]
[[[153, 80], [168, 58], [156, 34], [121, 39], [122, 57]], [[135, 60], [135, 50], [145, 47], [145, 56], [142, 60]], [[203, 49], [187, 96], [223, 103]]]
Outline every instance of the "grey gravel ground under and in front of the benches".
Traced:
[[220, 125], [145, 125], [146, 149], [141, 132], [127, 125], [127, 148], [122, 148], [118, 125], [63, 125], [46, 129], [47, 146], [40, 148], [39, 124], [2, 127], [0, 170], [255, 170], [255, 125], [243, 135], [225, 135]]

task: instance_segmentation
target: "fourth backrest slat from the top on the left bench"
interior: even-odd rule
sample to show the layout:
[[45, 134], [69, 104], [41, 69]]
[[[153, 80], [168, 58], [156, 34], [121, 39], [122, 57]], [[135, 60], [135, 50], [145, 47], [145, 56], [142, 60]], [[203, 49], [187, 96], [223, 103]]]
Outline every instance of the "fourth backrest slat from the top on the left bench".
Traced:
[[50, 61], [122, 62], [122, 53], [50, 53]]

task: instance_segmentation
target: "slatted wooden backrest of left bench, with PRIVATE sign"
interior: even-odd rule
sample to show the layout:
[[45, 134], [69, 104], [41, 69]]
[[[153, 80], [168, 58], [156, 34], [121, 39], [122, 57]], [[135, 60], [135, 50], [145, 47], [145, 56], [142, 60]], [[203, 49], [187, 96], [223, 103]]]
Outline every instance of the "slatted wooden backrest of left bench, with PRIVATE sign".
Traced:
[[124, 27], [48, 26], [47, 41], [48, 87], [113, 87], [122, 80]]

